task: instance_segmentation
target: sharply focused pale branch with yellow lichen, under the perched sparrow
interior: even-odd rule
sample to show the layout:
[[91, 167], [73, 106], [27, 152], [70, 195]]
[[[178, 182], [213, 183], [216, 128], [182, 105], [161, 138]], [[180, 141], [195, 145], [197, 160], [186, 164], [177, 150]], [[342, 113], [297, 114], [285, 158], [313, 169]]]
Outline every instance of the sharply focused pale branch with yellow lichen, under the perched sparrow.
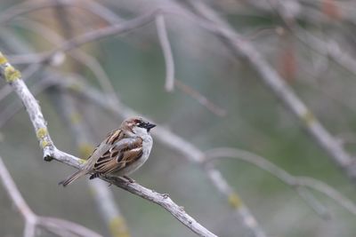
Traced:
[[[44, 160], [51, 161], [55, 159], [59, 162], [66, 163], [77, 169], [81, 168], [81, 164], [85, 161], [71, 154], [66, 154], [58, 150], [48, 133], [44, 116], [36, 102], [36, 99], [28, 91], [28, 87], [21, 80], [20, 71], [12, 67], [2, 53], [0, 53], [0, 75], [3, 79], [12, 85], [12, 89], [17, 93], [23, 102], [36, 130], [36, 137], [44, 151]], [[158, 194], [146, 187], [140, 186], [137, 183], [126, 183], [120, 178], [102, 178], [115, 186], [121, 187], [126, 191], [141, 196], [142, 198], [155, 202], [159, 206], [166, 209], [174, 217], [176, 217], [183, 225], [186, 225], [194, 233], [200, 236], [216, 236], [209, 232], [203, 225], [200, 225], [194, 218], [190, 217], [184, 209], [174, 203], [167, 194]]]

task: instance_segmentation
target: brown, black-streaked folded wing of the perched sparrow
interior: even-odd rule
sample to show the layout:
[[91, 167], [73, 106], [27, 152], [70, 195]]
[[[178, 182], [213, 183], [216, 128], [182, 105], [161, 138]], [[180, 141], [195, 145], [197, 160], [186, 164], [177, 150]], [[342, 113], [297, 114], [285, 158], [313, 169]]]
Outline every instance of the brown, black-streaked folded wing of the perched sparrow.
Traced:
[[142, 156], [142, 138], [125, 138], [119, 132], [113, 131], [112, 136], [103, 143], [93, 153], [100, 154], [93, 164], [93, 171], [97, 173], [109, 174], [121, 170]]

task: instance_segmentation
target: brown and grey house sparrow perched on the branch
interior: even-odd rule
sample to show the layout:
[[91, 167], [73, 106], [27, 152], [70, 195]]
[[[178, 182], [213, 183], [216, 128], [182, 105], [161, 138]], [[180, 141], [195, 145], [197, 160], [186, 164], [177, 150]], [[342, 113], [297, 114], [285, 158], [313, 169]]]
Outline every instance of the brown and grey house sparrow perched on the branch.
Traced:
[[90, 179], [107, 175], [134, 182], [127, 175], [139, 169], [149, 158], [152, 148], [150, 130], [154, 127], [155, 124], [141, 117], [126, 119], [95, 148], [83, 169], [77, 170], [59, 185], [68, 186], [86, 174], [91, 174]]

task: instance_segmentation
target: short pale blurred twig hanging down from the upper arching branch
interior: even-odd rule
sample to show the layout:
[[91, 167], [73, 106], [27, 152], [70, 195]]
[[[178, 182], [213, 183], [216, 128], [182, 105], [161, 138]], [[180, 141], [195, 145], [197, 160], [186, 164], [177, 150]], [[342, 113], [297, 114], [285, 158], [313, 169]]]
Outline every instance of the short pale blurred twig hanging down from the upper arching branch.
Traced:
[[166, 91], [174, 91], [174, 59], [171, 44], [169, 43], [168, 34], [166, 32], [165, 18], [162, 14], [156, 16], [156, 27], [159, 43], [166, 62]]

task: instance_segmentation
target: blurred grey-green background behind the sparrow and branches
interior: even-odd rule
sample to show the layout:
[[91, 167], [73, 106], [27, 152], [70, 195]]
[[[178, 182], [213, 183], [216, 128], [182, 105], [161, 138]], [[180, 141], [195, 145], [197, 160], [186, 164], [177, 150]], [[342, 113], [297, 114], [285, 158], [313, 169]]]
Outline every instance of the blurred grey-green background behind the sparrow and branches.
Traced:
[[[242, 42], [251, 43], [337, 142], [354, 154], [356, 38], [352, 32], [356, 4], [353, 1], [201, 3], [229, 22]], [[157, 8], [173, 12], [164, 14], [174, 59], [173, 91], [165, 88], [166, 60], [155, 20], [125, 34], [98, 38], [65, 54], [58, 52], [36, 64], [38, 55], [34, 53], [51, 51], [70, 38], [110, 24], [125, 24], [126, 20]], [[214, 32], [175, 13], [182, 9], [198, 15], [198, 9], [190, 1], [2, 0], [0, 51], [22, 71], [42, 107], [54, 144], [69, 154], [80, 156], [93, 147], [88, 146], [85, 152], [83, 147], [78, 149], [77, 130], [65, 115], [68, 107], [74, 109], [72, 115], [81, 117], [80, 123], [85, 124], [82, 137], [92, 145], [99, 144], [123, 118], [88, 99], [73, 94], [61, 97], [44, 83], [51, 76], [58, 80], [61, 77], [81, 80], [108, 96], [107, 103], [117, 96], [126, 107], [171, 130], [202, 152], [218, 147], [247, 150], [291, 175], [319, 179], [350, 200], [356, 200], [354, 180], [347, 178], [328, 152], [304, 130], [290, 108], [264, 85], [246, 57], [228, 47]], [[75, 51], [89, 59], [77, 59], [80, 57], [73, 56]], [[36, 134], [26, 111], [20, 107], [20, 100], [6, 92], [4, 82], [1, 86], [1, 156], [28, 205], [38, 215], [61, 217], [103, 236], [112, 236], [86, 178], [67, 188], [57, 185], [74, 169], [60, 162], [43, 161]], [[112, 105], [115, 107], [115, 102]], [[76, 119], [71, 117], [72, 122]], [[190, 162], [158, 138], [154, 140], [150, 160], [132, 178], [142, 186], [170, 194], [218, 236], [255, 236], [244, 225], [236, 207], [208, 178], [202, 165]], [[293, 186], [251, 163], [215, 159], [213, 164], [239, 194], [266, 236], [355, 236], [355, 215], [328, 196], [308, 189], [317, 206], [322, 206], [324, 214], [320, 217]], [[0, 190], [0, 236], [20, 236], [24, 221], [4, 189]], [[130, 236], [196, 236], [150, 201], [115, 186], [109, 190], [125, 217]], [[37, 235], [53, 236], [44, 231]]]

